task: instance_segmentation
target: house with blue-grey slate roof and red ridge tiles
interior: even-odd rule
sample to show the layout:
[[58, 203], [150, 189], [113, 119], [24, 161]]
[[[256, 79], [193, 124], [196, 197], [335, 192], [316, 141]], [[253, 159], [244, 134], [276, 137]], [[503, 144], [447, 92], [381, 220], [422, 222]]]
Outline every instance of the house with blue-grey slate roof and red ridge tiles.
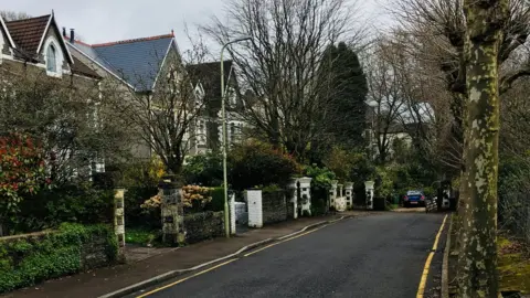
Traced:
[[[178, 93], [170, 89], [167, 83], [170, 79], [183, 79], [186, 70], [173, 33], [149, 38], [124, 40], [100, 44], [87, 44], [75, 40], [74, 31], [70, 36], [64, 32], [63, 39], [71, 49], [73, 56], [91, 65], [98, 75], [107, 81], [118, 83], [124, 92], [131, 96], [152, 97], [160, 93]], [[204, 92], [194, 88], [195, 106], [204, 99]], [[125, 99], [127, 100], [127, 99]], [[156, 98], [155, 100], [156, 102]], [[149, 107], [156, 109], [156, 105]], [[188, 107], [193, 109], [194, 107]], [[156, 114], [156, 111], [153, 111]], [[156, 116], [153, 116], [156, 117]], [[205, 120], [199, 117], [190, 125], [184, 139], [188, 155], [195, 155], [206, 147]], [[202, 129], [202, 131], [201, 131]], [[153, 155], [152, 148], [145, 141], [135, 146], [137, 157], [149, 158]]]

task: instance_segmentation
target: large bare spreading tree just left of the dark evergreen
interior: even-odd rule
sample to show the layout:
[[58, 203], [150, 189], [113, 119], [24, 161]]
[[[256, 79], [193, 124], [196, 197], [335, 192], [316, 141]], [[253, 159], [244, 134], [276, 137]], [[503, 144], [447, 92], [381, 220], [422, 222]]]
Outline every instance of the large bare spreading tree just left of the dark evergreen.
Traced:
[[343, 0], [232, 0], [227, 22], [204, 28], [216, 42], [250, 35], [227, 49], [239, 67], [244, 97], [241, 117], [276, 148], [304, 159], [310, 145], [328, 138], [335, 120], [331, 75], [324, 52], [336, 41], [359, 41], [353, 8]]

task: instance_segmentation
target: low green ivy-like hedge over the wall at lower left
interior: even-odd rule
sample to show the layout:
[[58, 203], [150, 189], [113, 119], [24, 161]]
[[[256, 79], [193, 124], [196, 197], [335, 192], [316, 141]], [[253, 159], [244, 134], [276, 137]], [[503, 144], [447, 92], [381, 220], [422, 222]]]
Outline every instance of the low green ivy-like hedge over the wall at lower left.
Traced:
[[[103, 246], [95, 243], [103, 242]], [[102, 251], [99, 263], [86, 254]], [[107, 225], [63, 224], [57, 231], [0, 238], [0, 292], [116, 262], [118, 244]]]

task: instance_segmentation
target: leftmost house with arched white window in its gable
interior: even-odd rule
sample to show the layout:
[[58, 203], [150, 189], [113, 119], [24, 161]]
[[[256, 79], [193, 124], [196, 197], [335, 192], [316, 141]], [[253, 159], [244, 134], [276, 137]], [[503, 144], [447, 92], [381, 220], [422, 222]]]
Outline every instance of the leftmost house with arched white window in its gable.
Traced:
[[[0, 75], [2, 84], [11, 85], [22, 77], [31, 77], [51, 83], [57, 89], [83, 89], [86, 98], [78, 99], [85, 104], [91, 100], [91, 96], [98, 96], [97, 86], [102, 79], [96, 72], [71, 54], [53, 13], [9, 22], [0, 17]], [[53, 127], [51, 124], [47, 129]], [[11, 128], [6, 129], [12, 131]], [[82, 159], [89, 163], [89, 171], [104, 171], [103, 162], [94, 158], [97, 153], [83, 152], [81, 158], [78, 152], [68, 147], [54, 147], [52, 155], [57, 163]], [[86, 161], [86, 158], [89, 160]]]

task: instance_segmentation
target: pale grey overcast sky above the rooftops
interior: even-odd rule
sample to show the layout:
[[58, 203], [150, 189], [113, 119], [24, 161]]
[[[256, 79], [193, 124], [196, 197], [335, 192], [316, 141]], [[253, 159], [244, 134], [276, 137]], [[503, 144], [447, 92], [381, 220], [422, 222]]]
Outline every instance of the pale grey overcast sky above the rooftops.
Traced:
[[[380, 25], [388, 20], [382, 15], [388, 1], [367, 0], [362, 17]], [[60, 26], [75, 28], [87, 43], [168, 34], [173, 29], [179, 46], [187, 49], [184, 23], [193, 32], [194, 24], [208, 23], [212, 14], [222, 17], [223, 0], [4, 0], [0, 6], [35, 17], [52, 9]]]

